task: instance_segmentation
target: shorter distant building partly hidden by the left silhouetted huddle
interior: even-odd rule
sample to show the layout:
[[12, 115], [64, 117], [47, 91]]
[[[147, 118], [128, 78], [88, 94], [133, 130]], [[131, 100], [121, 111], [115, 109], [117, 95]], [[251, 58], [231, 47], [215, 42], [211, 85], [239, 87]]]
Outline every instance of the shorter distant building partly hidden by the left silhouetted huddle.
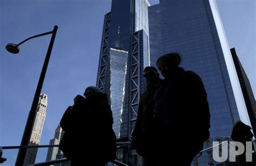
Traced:
[[[55, 129], [54, 138], [50, 140], [49, 145], [59, 145], [60, 140], [64, 134], [63, 129], [58, 125]], [[58, 147], [48, 148], [48, 153], [46, 156], [46, 161], [56, 160], [57, 154], [60, 154], [60, 150]]]

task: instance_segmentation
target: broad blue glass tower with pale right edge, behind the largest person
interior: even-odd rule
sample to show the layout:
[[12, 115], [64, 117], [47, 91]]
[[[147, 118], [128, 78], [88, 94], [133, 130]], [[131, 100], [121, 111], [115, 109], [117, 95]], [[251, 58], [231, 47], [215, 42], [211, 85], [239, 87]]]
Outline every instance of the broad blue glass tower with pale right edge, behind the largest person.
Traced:
[[[213, 140], [226, 140], [237, 119], [251, 126], [214, 0], [160, 0], [149, 7], [149, 37], [152, 66], [160, 55], [178, 52], [180, 66], [202, 78], [211, 112], [207, 146]], [[212, 161], [200, 158], [199, 165]]]

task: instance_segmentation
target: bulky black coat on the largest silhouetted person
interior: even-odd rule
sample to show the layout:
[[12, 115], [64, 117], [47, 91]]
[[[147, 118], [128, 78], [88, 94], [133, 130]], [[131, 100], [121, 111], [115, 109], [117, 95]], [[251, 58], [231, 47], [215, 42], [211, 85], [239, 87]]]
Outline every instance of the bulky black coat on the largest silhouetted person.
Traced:
[[159, 150], [190, 149], [194, 155], [202, 150], [210, 137], [210, 111], [201, 78], [179, 67], [175, 76], [163, 81], [154, 101], [159, 128], [163, 129]]

